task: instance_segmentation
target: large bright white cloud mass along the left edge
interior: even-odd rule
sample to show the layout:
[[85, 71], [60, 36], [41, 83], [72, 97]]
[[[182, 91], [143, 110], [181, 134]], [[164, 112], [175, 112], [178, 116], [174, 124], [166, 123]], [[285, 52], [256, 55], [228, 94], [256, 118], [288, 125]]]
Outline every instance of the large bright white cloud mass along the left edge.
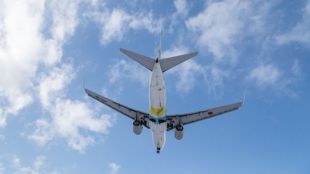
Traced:
[[63, 99], [76, 72], [73, 63], [62, 62], [62, 46], [78, 26], [80, 2], [0, 2], [0, 69], [5, 72], [0, 73], [0, 127], [5, 126], [8, 115], [18, 114], [38, 96], [50, 117], [37, 119], [28, 139], [46, 145], [60, 137], [83, 152], [96, 140], [88, 131], [108, 133], [113, 119], [105, 114], [97, 118], [88, 104]]

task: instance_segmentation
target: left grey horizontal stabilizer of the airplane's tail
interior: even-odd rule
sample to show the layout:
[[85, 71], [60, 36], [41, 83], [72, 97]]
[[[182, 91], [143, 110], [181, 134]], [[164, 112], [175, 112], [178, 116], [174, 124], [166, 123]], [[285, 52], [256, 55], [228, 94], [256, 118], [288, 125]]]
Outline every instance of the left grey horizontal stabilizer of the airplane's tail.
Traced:
[[143, 65], [145, 68], [149, 69], [150, 71], [153, 71], [155, 59], [134, 53], [132, 51], [125, 50], [123, 48], [120, 48], [120, 50], [125, 55], [129, 56], [130, 58], [136, 60], [138, 63]]

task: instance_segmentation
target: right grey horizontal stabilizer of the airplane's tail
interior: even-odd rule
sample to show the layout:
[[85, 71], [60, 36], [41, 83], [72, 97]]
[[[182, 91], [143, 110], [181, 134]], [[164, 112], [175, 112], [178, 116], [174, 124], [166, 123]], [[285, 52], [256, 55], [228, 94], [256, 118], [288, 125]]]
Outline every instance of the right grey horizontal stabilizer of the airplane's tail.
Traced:
[[181, 56], [175, 56], [175, 57], [171, 57], [171, 58], [164, 58], [164, 59], [160, 59], [160, 66], [161, 66], [161, 70], [163, 72], [177, 66], [178, 64], [193, 58], [195, 56], [198, 55], [198, 52], [194, 52], [194, 53], [189, 53], [186, 55], [181, 55]]

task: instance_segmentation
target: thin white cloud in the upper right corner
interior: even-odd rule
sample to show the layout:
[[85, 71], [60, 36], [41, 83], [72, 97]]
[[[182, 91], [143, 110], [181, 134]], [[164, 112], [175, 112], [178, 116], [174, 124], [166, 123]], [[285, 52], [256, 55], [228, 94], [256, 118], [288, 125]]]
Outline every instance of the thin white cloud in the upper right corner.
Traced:
[[302, 12], [303, 17], [301, 21], [291, 31], [276, 36], [277, 43], [300, 42], [310, 44], [310, 1], [306, 4]]

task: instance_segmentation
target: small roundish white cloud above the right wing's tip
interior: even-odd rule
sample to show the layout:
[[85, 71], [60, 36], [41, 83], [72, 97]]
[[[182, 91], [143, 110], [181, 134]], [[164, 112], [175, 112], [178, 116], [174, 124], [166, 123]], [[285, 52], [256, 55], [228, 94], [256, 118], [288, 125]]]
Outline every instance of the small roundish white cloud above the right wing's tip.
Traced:
[[281, 73], [279, 69], [272, 64], [260, 65], [253, 69], [248, 75], [249, 79], [255, 80], [259, 87], [273, 86], [279, 81]]

